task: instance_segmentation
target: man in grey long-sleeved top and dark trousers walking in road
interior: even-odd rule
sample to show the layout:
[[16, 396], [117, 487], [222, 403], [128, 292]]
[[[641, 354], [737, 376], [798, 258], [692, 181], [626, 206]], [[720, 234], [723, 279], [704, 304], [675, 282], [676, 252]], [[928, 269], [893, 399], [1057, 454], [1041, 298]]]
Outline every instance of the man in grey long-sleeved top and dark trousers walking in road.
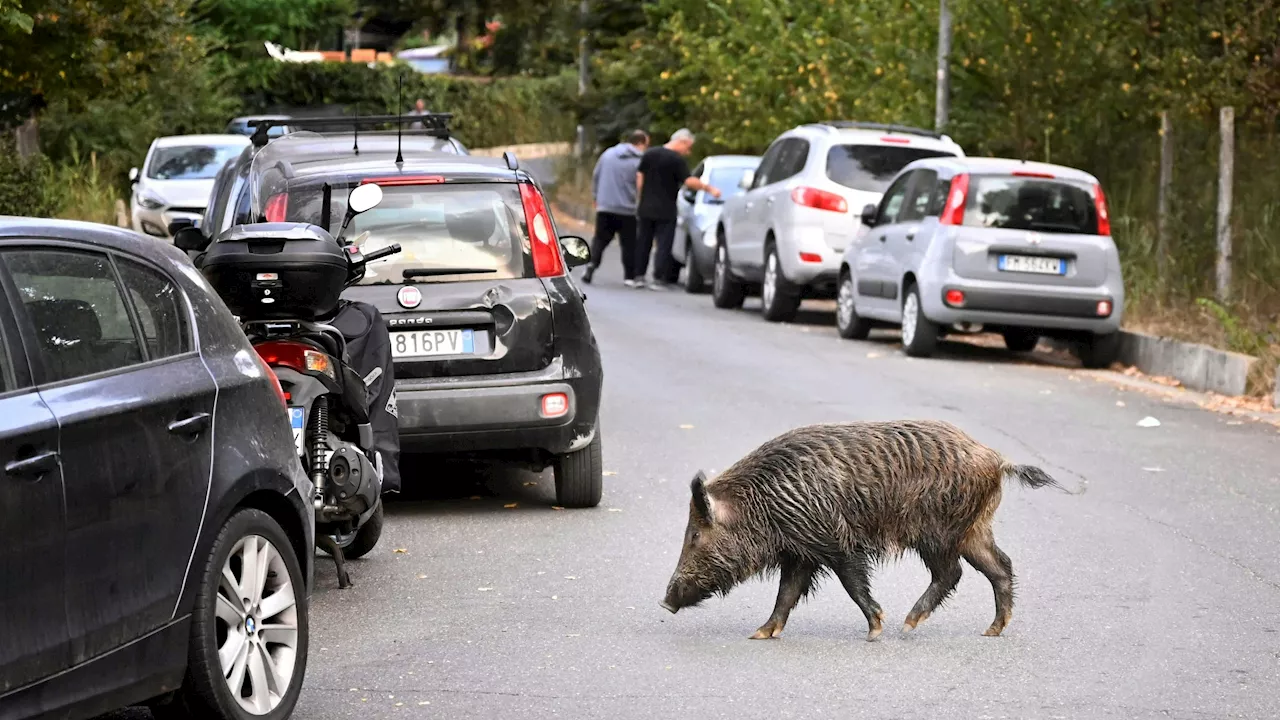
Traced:
[[605, 150], [591, 173], [591, 197], [595, 201], [595, 238], [591, 241], [591, 264], [582, 274], [590, 283], [600, 266], [604, 249], [618, 236], [622, 246], [622, 278], [627, 287], [636, 287], [636, 168], [649, 147], [649, 135], [632, 131], [626, 142]]

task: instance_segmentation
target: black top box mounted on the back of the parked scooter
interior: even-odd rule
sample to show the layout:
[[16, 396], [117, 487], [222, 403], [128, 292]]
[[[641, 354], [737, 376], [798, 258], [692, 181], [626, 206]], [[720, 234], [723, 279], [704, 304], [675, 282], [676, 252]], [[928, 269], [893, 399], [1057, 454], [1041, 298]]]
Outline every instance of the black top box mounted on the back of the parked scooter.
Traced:
[[243, 320], [315, 320], [332, 315], [346, 288], [347, 251], [317, 225], [260, 223], [228, 228], [201, 272]]

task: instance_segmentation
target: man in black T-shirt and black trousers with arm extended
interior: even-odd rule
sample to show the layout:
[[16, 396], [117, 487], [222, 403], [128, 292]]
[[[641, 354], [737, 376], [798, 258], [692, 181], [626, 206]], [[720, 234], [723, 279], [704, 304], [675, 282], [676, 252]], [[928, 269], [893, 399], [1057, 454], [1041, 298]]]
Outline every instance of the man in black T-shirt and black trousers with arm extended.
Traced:
[[652, 147], [640, 158], [636, 170], [636, 192], [640, 201], [636, 206], [636, 260], [634, 270], [636, 279], [644, 282], [649, 269], [649, 255], [654, 241], [658, 242], [658, 256], [653, 261], [652, 290], [667, 290], [678, 279], [680, 268], [671, 255], [671, 245], [676, 240], [676, 197], [681, 187], [705, 190], [712, 197], [719, 197], [719, 190], [690, 177], [685, 156], [694, 149], [694, 133], [681, 128], [672, 133], [662, 147]]

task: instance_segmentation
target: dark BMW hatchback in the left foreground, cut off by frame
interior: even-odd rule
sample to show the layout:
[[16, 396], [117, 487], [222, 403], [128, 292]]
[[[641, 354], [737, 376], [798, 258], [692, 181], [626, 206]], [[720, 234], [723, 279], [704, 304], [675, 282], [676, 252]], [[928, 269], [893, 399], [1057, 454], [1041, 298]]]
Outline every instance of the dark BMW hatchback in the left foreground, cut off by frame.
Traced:
[[314, 510], [284, 396], [170, 245], [0, 218], [0, 719], [287, 717]]

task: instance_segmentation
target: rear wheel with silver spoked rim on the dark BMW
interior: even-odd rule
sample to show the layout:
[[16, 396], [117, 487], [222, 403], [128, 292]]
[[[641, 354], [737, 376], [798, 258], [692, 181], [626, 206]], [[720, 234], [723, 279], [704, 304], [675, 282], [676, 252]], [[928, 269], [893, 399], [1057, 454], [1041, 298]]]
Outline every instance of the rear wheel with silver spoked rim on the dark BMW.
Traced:
[[[250, 557], [268, 562], [264, 587], [228, 588], [228, 575], [237, 578], [238, 571], [243, 578], [246, 573], [252, 573], [252, 569], [246, 569]], [[261, 510], [237, 511], [214, 539], [198, 582], [191, 615], [186, 679], [170, 698], [152, 706], [154, 715], [161, 720], [288, 717], [302, 692], [308, 644], [306, 580], [288, 536]], [[234, 592], [237, 589], [241, 592]], [[268, 589], [271, 592], [262, 594]], [[233, 602], [232, 594], [239, 597]], [[248, 615], [243, 610], [246, 596], [250, 601]], [[262, 610], [264, 606], [268, 609]], [[241, 620], [242, 616], [246, 619]], [[253, 623], [248, 623], [247, 618], [252, 618]], [[292, 648], [285, 641], [293, 642]], [[227, 670], [220, 660], [221, 651], [236, 642], [241, 643], [239, 651], [232, 653], [234, 659]], [[264, 662], [264, 655], [270, 657], [270, 665]], [[283, 693], [271, 692], [273, 678], [266, 674], [274, 675], [275, 683], [287, 683]], [[239, 675], [238, 680], [233, 679], [236, 675]], [[256, 676], [261, 676], [265, 680], [261, 684], [266, 687], [259, 689]], [[236, 684], [238, 691], [232, 689]]]

